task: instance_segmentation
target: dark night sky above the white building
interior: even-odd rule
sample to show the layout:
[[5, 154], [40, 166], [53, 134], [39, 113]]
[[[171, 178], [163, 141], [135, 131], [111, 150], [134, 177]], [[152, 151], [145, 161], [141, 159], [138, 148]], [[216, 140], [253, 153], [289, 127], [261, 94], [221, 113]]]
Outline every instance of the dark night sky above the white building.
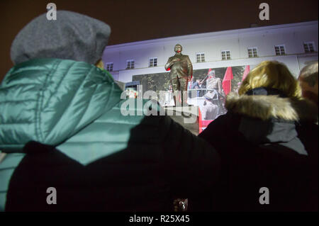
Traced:
[[[30, 20], [45, 13], [53, 2], [57, 10], [86, 14], [108, 23], [108, 45], [218, 30], [271, 26], [318, 20], [318, 0], [1, 0], [0, 81], [13, 66], [13, 38]], [[270, 6], [269, 21], [259, 20], [259, 4]]]

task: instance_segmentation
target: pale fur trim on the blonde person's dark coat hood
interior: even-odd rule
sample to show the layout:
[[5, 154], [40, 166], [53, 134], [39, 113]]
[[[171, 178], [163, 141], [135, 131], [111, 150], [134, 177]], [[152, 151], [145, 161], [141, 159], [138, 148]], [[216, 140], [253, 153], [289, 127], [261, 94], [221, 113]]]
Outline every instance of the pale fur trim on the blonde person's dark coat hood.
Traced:
[[262, 120], [276, 118], [318, 122], [318, 107], [306, 99], [293, 100], [276, 95], [239, 96], [236, 93], [230, 93], [227, 96], [225, 107], [232, 113]]

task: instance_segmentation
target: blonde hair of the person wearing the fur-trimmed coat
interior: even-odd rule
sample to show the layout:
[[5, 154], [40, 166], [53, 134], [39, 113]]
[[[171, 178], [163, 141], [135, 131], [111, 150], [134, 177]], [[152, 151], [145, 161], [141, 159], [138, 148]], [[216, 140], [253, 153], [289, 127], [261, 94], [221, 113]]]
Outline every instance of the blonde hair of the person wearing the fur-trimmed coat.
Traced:
[[293, 77], [286, 65], [276, 61], [264, 61], [252, 69], [242, 81], [238, 94], [245, 94], [250, 89], [258, 87], [279, 89], [290, 98], [301, 98], [298, 80]]

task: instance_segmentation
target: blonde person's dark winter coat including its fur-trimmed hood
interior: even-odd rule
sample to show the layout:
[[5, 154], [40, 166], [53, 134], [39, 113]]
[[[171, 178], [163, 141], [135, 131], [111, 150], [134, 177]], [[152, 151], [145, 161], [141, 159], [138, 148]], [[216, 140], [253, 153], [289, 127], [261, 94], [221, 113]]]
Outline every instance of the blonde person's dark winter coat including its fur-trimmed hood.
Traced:
[[[236, 94], [228, 95], [226, 108], [198, 135], [222, 161], [218, 188], [203, 208], [318, 211], [318, 108], [305, 100]], [[259, 203], [263, 187], [269, 204]]]

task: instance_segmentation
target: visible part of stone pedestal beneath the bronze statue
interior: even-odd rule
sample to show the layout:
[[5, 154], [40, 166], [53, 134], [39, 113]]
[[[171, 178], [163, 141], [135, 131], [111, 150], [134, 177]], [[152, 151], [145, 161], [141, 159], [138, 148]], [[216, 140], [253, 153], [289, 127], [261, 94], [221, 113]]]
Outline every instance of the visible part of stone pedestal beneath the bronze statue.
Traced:
[[165, 115], [182, 125], [194, 135], [199, 133], [198, 106], [168, 106], [164, 107]]

